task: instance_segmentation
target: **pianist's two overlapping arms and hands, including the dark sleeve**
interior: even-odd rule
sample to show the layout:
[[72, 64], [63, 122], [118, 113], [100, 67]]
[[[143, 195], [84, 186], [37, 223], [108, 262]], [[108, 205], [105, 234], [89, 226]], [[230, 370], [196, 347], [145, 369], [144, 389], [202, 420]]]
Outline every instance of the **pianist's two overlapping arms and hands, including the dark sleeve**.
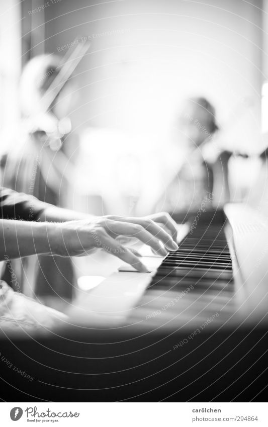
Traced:
[[[88, 215], [59, 209], [31, 196], [5, 189], [1, 189], [0, 203], [4, 218], [0, 224], [1, 260], [41, 253], [62, 257], [81, 256], [93, 248], [102, 248], [145, 272], [146, 268], [139, 258], [116, 240], [118, 236], [138, 238], [163, 257], [168, 250], [178, 247], [174, 222], [165, 213], [143, 218], [89, 218]], [[9, 217], [28, 220], [5, 219]], [[70, 218], [76, 220], [70, 221]], [[33, 219], [59, 222], [36, 222]]]

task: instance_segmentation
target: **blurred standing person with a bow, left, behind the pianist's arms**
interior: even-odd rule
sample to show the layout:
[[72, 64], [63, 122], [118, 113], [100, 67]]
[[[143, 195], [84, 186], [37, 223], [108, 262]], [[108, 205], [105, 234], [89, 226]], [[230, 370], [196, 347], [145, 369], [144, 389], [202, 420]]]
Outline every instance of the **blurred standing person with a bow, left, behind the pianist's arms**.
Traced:
[[[21, 133], [16, 146], [2, 159], [2, 185], [58, 207], [69, 207], [73, 164], [78, 151], [78, 138], [71, 133], [68, 118], [74, 99], [70, 81], [65, 82], [48, 111], [42, 108], [60, 67], [57, 56], [40, 55], [29, 61], [23, 71]], [[4, 279], [10, 283], [8, 275], [6, 270]], [[34, 284], [32, 291], [48, 305], [53, 305], [57, 297], [56, 308], [59, 308], [58, 304], [72, 298], [71, 259], [46, 255], [22, 259], [17, 261], [16, 275], [26, 294], [31, 294], [29, 289], [27, 292], [27, 282]]]

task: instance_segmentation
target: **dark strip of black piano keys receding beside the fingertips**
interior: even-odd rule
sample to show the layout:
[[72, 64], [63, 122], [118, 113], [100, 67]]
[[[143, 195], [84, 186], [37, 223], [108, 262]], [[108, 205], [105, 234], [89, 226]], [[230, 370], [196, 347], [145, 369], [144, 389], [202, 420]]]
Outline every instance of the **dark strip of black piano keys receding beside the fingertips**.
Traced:
[[165, 257], [131, 322], [142, 319], [146, 326], [173, 328], [199, 325], [213, 315], [215, 321], [226, 322], [233, 313], [232, 258], [224, 221], [210, 222], [205, 218]]

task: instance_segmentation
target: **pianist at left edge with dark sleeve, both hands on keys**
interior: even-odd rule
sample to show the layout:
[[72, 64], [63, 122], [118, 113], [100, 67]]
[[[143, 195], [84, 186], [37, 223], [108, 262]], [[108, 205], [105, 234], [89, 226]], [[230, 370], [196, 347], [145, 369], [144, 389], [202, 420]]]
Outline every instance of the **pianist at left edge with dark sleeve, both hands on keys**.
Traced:
[[91, 217], [3, 187], [0, 187], [0, 207], [0, 261], [5, 261], [18, 291], [14, 292], [0, 281], [0, 329], [4, 332], [45, 331], [61, 321], [67, 322], [67, 317], [59, 311], [21, 293], [13, 269], [16, 258], [46, 254], [50, 258], [57, 256], [68, 260], [71, 256], [87, 255], [102, 248], [136, 270], [147, 272], [133, 249], [123, 245], [117, 237], [135, 237], [161, 256], [178, 248], [175, 224], [165, 213], [141, 218]]

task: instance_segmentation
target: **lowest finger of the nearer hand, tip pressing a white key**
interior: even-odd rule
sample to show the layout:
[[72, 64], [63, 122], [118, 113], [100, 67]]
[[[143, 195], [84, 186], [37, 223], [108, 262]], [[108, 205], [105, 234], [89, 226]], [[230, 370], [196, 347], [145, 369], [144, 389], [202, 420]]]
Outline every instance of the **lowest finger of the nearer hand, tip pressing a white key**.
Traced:
[[110, 237], [105, 231], [100, 237], [102, 242], [102, 248], [106, 250], [108, 253], [112, 253], [116, 257], [120, 258], [120, 260], [124, 261], [127, 264], [130, 264], [136, 270], [142, 273], [148, 273], [148, 269], [145, 265], [139, 260], [134, 253], [132, 253], [127, 247], [118, 243], [115, 239]]

